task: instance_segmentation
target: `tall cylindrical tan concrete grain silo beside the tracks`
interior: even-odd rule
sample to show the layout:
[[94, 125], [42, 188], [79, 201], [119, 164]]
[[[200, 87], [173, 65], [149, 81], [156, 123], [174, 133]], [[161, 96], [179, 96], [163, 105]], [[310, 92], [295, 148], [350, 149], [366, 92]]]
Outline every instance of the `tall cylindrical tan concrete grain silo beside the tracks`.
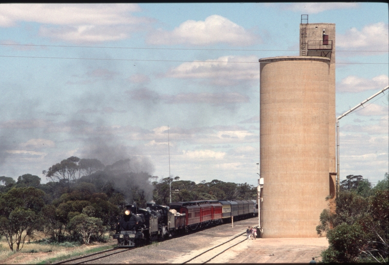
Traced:
[[[325, 32], [335, 40], [331, 25]], [[308, 37], [310, 27], [301, 30], [306, 47], [300, 56], [259, 60], [260, 223], [265, 238], [317, 237], [326, 197], [335, 191], [335, 54], [322, 32], [318, 39]], [[310, 40], [318, 41], [316, 50], [308, 47]]]

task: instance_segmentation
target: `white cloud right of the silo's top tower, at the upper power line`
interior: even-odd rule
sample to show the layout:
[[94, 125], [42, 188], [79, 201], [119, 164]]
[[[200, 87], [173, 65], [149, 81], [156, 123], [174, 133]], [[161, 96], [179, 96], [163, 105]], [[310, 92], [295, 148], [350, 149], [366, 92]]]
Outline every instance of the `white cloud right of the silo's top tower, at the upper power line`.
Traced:
[[[367, 25], [363, 27], [361, 31], [356, 28], [352, 28], [345, 34], [336, 34], [336, 49], [342, 48], [351, 50], [363, 49], [388, 51], [388, 33], [388, 24], [385, 24], [384, 22]], [[371, 55], [372, 53], [367, 54]]]

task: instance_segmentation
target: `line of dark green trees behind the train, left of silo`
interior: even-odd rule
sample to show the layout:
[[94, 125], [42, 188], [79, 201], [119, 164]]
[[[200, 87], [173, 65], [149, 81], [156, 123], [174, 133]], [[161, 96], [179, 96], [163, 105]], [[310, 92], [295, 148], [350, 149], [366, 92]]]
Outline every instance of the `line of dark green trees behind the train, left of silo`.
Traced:
[[169, 205], [172, 201], [201, 199], [255, 199], [256, 187], [212, 180], [198, 184], [177, 176], [162, 178], [137, 170], [129, 159], [103, 165], [97, 159], [71, 156], [38, 176], [24, 174], [15, 181], [0, 176], [0, 237], [19, 251], [27, 238], [44, 232], [50, 242], [105, 241], [116, 228], [125, 204], [146, 202]]

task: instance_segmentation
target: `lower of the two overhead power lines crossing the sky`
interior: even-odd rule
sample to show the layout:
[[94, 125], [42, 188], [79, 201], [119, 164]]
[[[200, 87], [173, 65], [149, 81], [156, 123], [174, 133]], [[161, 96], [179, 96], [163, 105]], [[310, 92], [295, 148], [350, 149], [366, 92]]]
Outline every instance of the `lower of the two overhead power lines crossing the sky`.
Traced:
[[[34, 59], [68, 59], [68, 60], [102, 60], [102, 61], [138, 61], [138, 62], [179, 62], [179, 63], [245, 63], [258, 64], [258, 61], [200, 61], [200, 60], [146, 60], [146, 59], [115, 59], [115, 58], [77, 58], [77, 57], [46, 57], [46, 56], [16, 56], [0, 55], [9, 58], [34, 58]], [[388, 65], [389, 63], [335, 63], [336, 65]]]

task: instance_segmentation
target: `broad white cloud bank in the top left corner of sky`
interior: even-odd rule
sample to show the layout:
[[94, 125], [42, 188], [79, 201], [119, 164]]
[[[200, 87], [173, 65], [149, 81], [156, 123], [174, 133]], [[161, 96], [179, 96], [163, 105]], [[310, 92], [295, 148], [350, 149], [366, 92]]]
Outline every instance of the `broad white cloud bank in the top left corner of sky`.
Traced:
[[[148, 19], [131, 16], [137, 4], [2, 4], [0, 27], [20, 21], [42, 24], [39, 34], [73, 43], [120, 40]], [[134, 27], [138, 25], [137, 27]]]

